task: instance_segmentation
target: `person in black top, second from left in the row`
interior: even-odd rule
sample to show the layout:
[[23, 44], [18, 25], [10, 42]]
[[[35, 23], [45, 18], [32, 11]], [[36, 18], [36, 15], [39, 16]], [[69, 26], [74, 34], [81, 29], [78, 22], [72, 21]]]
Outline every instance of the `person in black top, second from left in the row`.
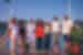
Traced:
[[24, 45], [25, 45], [25, 24], [23, 20], [19, 21], [19, 42], [20, 42], [20, 54], [24, 54]]

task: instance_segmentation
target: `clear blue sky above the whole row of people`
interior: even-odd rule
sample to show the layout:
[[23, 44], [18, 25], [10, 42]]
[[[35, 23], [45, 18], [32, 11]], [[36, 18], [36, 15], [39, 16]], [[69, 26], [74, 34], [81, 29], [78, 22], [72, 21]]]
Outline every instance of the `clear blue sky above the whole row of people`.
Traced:
[[71, 18], [83, 18], [83, 0], [12, 0], [10, 4], [0, 0], [0, 21], [18, 19], [43, 18], [52, 20], [53, 15], [71, 13]]

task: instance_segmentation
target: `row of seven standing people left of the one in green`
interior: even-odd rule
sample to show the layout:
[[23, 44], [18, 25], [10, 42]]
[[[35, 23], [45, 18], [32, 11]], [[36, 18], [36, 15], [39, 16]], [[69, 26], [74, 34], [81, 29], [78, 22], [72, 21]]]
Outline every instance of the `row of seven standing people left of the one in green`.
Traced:
[[13, 18], [8, 24], [6, 37], [10, 38], [10, 53], [15, 55], [17, 37], [20, 40], [21, 54], [25, 52], [25, 43], [30, 47], [30, 52], [54, 51], [64, 55], [65, 50], [71, 45], [72, 20], [68, 16], [60, 22], [59, 18], [53, 21], [44, 22], [42, 19], [33, 21], [30, 19], [27, 23], [22, 20], [18, 23]]

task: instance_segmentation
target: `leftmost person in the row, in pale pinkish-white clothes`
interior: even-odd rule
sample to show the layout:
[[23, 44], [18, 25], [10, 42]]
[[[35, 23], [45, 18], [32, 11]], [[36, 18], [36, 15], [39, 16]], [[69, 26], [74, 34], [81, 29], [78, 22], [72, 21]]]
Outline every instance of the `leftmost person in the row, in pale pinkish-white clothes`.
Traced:
[[18, 36], [18, 25], [15, 18], [11, 19], [9, 23], [7, 36], [10, 37], [10, 54], [15, 55], [15, 41]]

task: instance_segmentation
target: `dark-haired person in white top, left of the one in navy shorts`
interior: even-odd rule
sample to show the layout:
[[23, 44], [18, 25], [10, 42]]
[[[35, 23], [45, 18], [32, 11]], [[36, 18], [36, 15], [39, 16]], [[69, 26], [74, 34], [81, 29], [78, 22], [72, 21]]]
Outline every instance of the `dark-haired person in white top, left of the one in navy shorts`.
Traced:
[[54, 52], [59, 52], [58, 51], [58, 38], [60, 35], [60, 22], [58, 18], [53, 18], [53, 21], [51, 23], [51, 29], [52, 29], [52, 34], [53, 34], [53, 51]]

